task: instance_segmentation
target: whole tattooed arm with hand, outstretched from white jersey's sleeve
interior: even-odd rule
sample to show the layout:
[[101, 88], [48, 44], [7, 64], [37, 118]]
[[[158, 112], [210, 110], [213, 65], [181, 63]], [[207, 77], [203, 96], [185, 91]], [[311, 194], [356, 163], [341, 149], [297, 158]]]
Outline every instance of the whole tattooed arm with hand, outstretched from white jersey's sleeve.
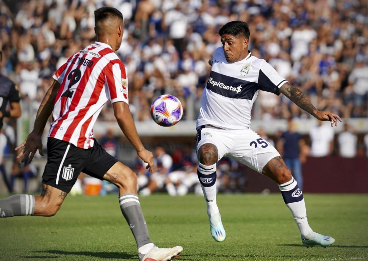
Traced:
[[309, 114], [313, 115], [315, 118], [319, 119], [320, 121], [330, 121], [331, 127], [333, 127], [333, 124], [335, 123], [335, 126], [337, 126], [337, 119], [341, 121], [341, 118], [339, 115], [334, 114], [330, 111], [319, 111], [316, 109], [316, 107], [313, 106], [311, 101], [309, 101], [308, 97], [304, 95], [304, 93], [298, 89], [297, 87], [294, 87], [290, 83], [284, 83], [280, 87], [280, 93], [284, 94], [286, 97], [288, 97], [293, 103], [295, 103], [297, 106], [308, 112]]

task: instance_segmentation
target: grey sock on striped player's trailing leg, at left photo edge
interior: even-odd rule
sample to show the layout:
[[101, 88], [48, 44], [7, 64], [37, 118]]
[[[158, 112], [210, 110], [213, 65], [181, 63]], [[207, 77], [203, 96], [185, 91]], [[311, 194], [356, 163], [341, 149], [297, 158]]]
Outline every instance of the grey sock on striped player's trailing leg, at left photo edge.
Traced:
[[13, 195], [0, 199], [0, 218], [33, 215], [35, 212], [35, 196]]

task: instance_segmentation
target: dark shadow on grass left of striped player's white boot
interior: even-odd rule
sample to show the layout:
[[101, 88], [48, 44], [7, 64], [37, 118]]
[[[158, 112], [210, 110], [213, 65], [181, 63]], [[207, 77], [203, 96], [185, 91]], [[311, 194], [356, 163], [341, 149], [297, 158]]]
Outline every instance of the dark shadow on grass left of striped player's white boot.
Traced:
[[[63, 251], [63, 250], [43, 250], [43, 251], [33, 251], [34, 253], [49, 253], [58, 255], [85, 255], [89, 257], [99, 257], [99, 258], [120, 258], [129, 259], [135, 258], [137, 255], [132, 255], [124, 252], [91, 252], [91, 251]], [[25, 258], [36, 258], [36, 257], [25, 257]], [[38, 257], [38, 258], [56, 258], [56, 257]]]

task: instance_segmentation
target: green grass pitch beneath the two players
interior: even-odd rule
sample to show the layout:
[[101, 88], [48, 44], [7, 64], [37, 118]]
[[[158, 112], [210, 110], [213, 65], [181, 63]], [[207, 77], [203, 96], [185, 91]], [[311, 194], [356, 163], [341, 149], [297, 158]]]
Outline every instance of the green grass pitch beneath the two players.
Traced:
[[[3, 196], [2, 196], [3, 197]], [[141, 197], [152, 241], [181, 245], [178, 260], [368, 260], [368, 195], [307, 194], [311, 227], [335, 237], [305, 248], [279, 194], [219, 195], [226, 240], [210, 236], [205, 202], [189, 195]], [[68, 196], [56, 216], [0, 219], [0, 260], [136, 261], [117, 196]]]

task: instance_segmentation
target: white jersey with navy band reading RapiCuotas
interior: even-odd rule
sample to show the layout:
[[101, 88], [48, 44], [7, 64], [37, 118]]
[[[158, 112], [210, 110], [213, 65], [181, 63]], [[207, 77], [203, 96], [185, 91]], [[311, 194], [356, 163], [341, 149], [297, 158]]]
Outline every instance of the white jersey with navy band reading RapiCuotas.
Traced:
[[251, 111], [259, 90], [280, 94], [287, 81], [265, 60], [248, 54], [229, 63], [222, 47], [213, 53], [211, 73], [202, 93], [197, 129], [212, 125], [241, 130], [250, 127]]

